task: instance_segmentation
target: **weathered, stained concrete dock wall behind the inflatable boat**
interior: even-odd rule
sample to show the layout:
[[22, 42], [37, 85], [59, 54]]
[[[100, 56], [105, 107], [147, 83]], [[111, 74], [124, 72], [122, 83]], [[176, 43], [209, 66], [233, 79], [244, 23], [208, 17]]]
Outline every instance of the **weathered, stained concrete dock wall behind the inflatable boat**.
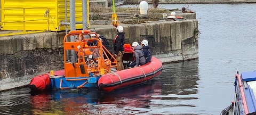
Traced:
[[[157, 21], [121, 24], [125, 42], [149, 41], [150, 50], [162, 62], [182, 61], [198, 57], [198, 22]], [[92, 31], [105, 36], [113, 51], [116, 29], [97, 25]], [[65, 32], [6, 36], [0, 39], [0, 91], [28, 85], [31, 78], [50, 70], [63, 69], [63, 37]]]

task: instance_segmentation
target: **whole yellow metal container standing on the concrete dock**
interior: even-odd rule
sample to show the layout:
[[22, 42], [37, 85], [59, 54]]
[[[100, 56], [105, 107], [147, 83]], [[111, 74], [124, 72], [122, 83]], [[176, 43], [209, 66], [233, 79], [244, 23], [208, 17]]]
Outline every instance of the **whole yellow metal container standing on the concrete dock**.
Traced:
[[[68, 0], [68, 20], [69, 4]], [[65, 22], [65, 0], [1, 0], [1, 7], [1, 30], [23, 30], [23, 24], [25, 30], [65, 30], [60, 24]], [[76, 0], [75, 11], [76, 21], [82, 21], [82, 0]], [[76, 29], [82, 27], [76, 24]]]

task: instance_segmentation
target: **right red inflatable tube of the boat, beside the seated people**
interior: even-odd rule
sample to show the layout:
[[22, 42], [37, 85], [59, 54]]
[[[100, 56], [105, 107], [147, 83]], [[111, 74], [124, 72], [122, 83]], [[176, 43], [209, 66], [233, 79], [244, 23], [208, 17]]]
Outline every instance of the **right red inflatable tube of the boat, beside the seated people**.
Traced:
[[98, 85], [103, 91], [110, 92], [118, 88], [147, 81], [158, 76], [162, 70], [162, 62], [159, 59], [152, 57], [151, 62], [140, 67], [111, 72], [101, 76]]

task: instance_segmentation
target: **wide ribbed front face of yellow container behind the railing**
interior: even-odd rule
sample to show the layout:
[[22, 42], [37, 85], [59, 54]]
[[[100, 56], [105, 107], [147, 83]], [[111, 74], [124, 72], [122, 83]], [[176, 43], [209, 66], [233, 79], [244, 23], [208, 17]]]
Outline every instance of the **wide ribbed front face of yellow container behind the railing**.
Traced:
[[4, 10], [2, 10], [1, 22], [6, 22], [2, 23], [2, 29], [23, 30], [23, 21], [26, 21], [25, 30], [48, 30], [47, 15], [44, 14], [47, 9], [54, 10], [54, 4], [54, 0], [2, 0], [2, 9]]

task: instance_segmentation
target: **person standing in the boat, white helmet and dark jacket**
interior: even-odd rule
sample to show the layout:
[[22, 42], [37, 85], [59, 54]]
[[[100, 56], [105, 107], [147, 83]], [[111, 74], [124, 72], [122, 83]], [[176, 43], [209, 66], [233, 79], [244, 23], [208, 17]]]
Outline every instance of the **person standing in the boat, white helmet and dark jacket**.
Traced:
[[118, 71], [124, 70], [124, 64], [123, 64], [123, 53], [124, 53], [124, 28], [122, 26], [116, 27], [117, 30], [117, 36], [114, 40], [114, 50], [117, 61], [117, 68]]

